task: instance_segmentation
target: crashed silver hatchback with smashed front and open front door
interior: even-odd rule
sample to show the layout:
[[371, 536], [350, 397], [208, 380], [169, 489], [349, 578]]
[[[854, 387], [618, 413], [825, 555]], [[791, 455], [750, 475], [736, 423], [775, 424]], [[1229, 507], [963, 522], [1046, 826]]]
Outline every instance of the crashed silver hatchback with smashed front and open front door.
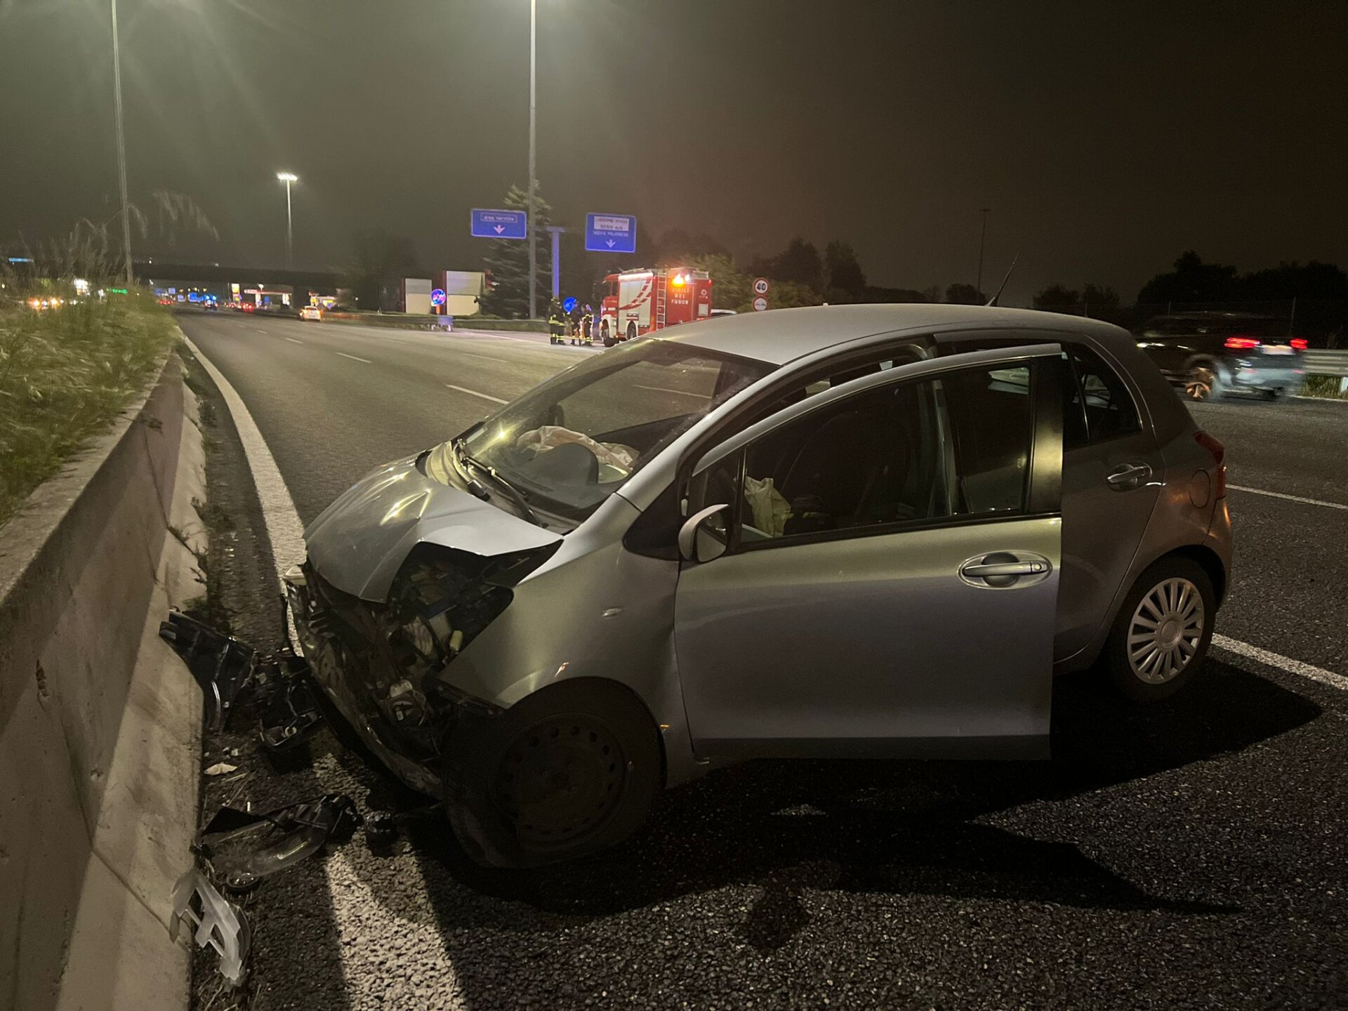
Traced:
[[492, 865], [747, 758], [1046, 758], [1054, 673], [1180, 689], [1223, 448], [1107, 324], [793, 309], [586, 359], [305, 532], [315, 681]]

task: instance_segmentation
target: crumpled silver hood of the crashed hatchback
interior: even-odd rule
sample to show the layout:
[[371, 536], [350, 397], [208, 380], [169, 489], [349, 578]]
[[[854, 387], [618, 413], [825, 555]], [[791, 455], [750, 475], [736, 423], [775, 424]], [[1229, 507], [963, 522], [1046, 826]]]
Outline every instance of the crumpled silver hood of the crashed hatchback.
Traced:
[[433, 481], [415, 457], [365, 474], [305, 530], [314, 570], [372, 601], [388, 597], [407, 553], [423, 541], [491, 558], [545, 547], [561, 534]]

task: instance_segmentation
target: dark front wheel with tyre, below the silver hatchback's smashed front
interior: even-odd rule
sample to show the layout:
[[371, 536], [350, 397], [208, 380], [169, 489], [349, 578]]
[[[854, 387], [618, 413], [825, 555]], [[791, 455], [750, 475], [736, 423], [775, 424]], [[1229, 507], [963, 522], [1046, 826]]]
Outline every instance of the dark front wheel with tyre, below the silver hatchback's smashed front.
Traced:
[[658, 732], [627, 689], [562, 682], [452, 732], [446, 809], [468, 855], [532, 867], [613, 847], [661, 786]]

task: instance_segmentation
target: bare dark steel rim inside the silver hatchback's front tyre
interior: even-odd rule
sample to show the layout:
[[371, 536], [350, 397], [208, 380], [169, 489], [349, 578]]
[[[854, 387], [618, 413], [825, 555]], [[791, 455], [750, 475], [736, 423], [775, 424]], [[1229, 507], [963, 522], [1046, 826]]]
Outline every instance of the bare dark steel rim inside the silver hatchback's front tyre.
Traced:
[[617, 737], [589, 717], [557, 716], [511, 744], [496, 774], [496, 807], [520, 842], [572, 842], [599, 829], [623, 793]]

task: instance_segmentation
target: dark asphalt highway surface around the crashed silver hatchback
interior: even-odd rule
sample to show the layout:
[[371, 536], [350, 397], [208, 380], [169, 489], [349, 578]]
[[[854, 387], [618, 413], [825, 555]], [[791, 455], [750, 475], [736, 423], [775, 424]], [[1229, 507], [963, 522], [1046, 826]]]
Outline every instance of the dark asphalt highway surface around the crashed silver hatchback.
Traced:
[[[305, 522], [369, 468], [599, 353], [181, 322]], [[441, 822], [411, 816], [391, 855], [357, 836], [263, 883], [237, 999], [1348, 1007], [1348, 404], [1194, 415], [1228, 449], [1236, 566], [1221, 646], [1181, 698], [1135, 709], [1060, 681], [1050, 763], [748, 763], [663, 795], [621, 849], [527, 875], [469, 867]], [[249, 764], [245, 790], [259, 807], [329, 790], [417, 803], [326, 736], [298, 768]]]

